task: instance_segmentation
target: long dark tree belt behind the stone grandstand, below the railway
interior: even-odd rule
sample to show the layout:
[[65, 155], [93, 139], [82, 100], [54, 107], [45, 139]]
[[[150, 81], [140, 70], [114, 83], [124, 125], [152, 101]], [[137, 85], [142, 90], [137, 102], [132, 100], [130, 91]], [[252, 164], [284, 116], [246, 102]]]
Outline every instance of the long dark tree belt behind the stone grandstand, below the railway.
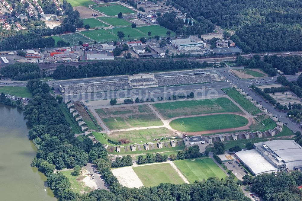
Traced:
[[125, 75], [142, 72], [153, 72], [158, 70], [172, 69], [188, 69], [202, 68], [202, 63], [188, 62], [187, 60], [180, 61], [140, 61], [133, 62], [132, 60], [120, 62], [98, 62], [81, 66], [77, 69], [75, 66], [59, 65], [51, 75], [55, 79], [70, 79], [70, 78], [86, 78], [94, 76], [108, 75]]

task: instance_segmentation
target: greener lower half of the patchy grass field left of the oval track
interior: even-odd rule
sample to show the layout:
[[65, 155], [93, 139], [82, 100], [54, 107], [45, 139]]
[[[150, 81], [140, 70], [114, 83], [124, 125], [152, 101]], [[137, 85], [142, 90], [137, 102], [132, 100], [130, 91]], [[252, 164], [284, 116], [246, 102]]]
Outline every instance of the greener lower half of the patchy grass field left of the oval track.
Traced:
[[103, 118], [102, 120], [111, 130], [163, 125], [162, 121], [158, 119], [155, 114], [152, 113], [133, 114], [130, 116], [123, 117], [108, 117]]

